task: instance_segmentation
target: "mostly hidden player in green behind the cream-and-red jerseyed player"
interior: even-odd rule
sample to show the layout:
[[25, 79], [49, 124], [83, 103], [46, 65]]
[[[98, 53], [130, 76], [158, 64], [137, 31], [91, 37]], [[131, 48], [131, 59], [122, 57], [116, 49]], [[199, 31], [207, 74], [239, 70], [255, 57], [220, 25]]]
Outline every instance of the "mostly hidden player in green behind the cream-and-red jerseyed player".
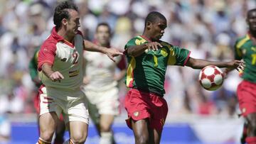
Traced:
[[[31, 76], [32, 81], [36, 85], [37, 93], [36, 96], [34, 96], [34, 106], [36, 109], [36, 113], [39, 115], [39, 95], [38, 95], [38, 88], [41, 86], [42, 82], [38, 77], [38, 52], [40, 50], [40, 47], [35, 48], [35, 52], [33, 54], [33, 57], [31, 58], [28, 68], [29, 68], [29, 74]], [[38, 123], [39, 124], [39, 123]], [[38, 125], [39, 126], [39, 125]], [[55, 139], [54, 144], [62, 144], [64, 142], [64, 133], [65, 133], [65, 123], [63, 121], [63, 117], [60, 117], [60, 121], [58, 121], [56, 129], [55, 129]]]

